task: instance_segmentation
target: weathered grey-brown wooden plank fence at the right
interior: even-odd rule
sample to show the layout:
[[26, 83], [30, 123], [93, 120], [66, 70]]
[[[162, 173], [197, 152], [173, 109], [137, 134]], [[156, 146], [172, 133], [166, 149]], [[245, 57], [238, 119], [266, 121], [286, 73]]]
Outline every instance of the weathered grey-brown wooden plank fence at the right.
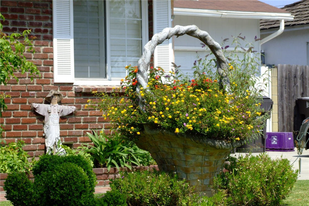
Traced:
[[[296, 98], [309, 96], [309, 66], [278, 65], [278, 132], [298, 131]], [[294, 136], [295, 137], [295, 136]]]

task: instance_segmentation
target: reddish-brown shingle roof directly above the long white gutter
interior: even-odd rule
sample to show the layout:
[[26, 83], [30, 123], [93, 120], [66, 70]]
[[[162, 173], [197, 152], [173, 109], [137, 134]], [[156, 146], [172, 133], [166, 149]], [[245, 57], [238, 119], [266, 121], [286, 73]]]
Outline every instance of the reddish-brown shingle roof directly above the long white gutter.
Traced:
[[174, 7], [226, 11], [288, 13], [258, 0], [174, 0]]

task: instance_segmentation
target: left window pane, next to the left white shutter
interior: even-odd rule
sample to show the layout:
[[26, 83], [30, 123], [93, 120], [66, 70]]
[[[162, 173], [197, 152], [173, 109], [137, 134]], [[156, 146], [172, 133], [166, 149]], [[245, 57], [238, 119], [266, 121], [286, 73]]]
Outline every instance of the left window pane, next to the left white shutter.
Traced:
[[74, 73], [77, 78], [106, 78], [103, 1], [73, 1]]

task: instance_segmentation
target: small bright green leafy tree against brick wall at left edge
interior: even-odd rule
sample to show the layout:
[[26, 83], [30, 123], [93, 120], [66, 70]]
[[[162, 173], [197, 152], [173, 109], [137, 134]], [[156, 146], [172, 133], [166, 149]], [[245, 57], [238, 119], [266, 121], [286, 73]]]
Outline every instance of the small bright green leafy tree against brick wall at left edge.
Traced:
[[[0, 18], [4, 20], [4, 16], [0, 13]], [[22, 34], [13, 33], [7, 35], [2, 32], [2, 24], [0, 23], [0, 84], [7, 85], [7, 82], [14, 78], [18, 82], [18, 78], [14, 72], [29, 72], [31, 81], [34, 77], [40, 76], [38, 68], [24, 55], [24, 52], [34, 53], [32, 40], [28, 38], [31, 30], [25, 30]], [[22, 39], [22, 40], [21, 40]], [[29, 47], [26, 49], [26, 46]], [[0, 95], [0, 116], [7, 109], [4, 99], [9, 95]], [[3, 129], [0, 130], [2, 137]]]

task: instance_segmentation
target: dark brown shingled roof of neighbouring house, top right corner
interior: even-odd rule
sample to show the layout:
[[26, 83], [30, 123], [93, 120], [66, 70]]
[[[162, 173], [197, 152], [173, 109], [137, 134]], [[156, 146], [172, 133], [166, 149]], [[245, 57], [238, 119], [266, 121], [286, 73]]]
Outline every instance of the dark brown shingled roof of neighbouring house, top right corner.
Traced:
[[[309, 0], [302, 0], [295, 2], [293, 4], [289, 4], [284, 6], [285, 11], [291, 13], [294, 16], [292, 21], [284, 22], [284, 26], [296, 26], [296, 25], [304, 25], [309, 24]], [[260, 21], [260, 29], [273, 29], [278, 28], [280, 26], [279, 20], [261, 20]]]

